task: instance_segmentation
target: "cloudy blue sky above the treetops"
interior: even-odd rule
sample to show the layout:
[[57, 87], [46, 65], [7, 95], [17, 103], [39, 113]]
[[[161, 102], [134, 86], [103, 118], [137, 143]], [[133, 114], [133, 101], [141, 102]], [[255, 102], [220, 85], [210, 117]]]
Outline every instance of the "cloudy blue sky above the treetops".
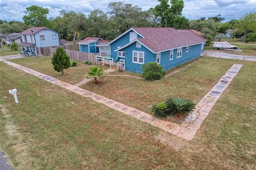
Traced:
[[[48, 18], [58, 16], [60, 10], [82, 11], [86, 15], [94, 9], [107, 12], [108, 3], [118, 1], [120, 0], [0, 0], [0, 19], [23, 21], [23, 11], [31, 5], [48, 9], [53, 8], [50, 9]], [[138, 5], [142, 10], [154, 8], [159, 4], [157, 0], [125, 0], [125, 3]], [[226, 22], [232, 19], [239, 19], [240, 16], [248, 12], [255, 12], [256, 0], [184, 0], [184, 6], [182, 15], [189, 20], [221, 14], [222, 17], [226, 18], [224, 21]]]

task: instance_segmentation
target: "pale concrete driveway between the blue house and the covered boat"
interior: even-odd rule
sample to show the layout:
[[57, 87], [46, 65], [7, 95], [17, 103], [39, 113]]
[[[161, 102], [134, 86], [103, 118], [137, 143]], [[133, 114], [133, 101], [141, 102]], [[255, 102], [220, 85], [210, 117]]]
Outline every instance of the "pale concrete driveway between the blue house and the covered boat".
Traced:
[[211, 50], [203, 50], [201, 55], [209, 56], [209, 57], [217, 57], [217, 58], [226, 58], [226, 59], [238, 59], [238, 60], [246, 60], [246, 61], [256, 61], [255, 57], [246, 56], [246, 55], [236, 55], [230, 53], [224, 53], [220, 51], [211, 51]]

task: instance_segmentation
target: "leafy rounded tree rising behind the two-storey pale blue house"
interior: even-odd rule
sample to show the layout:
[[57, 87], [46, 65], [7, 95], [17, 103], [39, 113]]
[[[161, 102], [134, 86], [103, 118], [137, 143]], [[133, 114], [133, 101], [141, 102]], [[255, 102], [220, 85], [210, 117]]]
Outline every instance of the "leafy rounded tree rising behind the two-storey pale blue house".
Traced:
[[25, 15], [22, 17], [27, 25], [35, 27], [51, 27], [50, 21], [47, 19], [49, 14], [48, 8], [32, 5], [26, 8]]

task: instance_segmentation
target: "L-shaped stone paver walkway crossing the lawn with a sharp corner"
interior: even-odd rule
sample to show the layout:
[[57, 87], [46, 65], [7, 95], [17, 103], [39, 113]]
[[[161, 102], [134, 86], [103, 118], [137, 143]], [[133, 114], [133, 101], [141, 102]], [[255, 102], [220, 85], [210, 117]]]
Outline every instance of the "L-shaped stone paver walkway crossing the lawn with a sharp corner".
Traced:
[[210, 113], [210, 111], [211, 111], [212, 107], [214, 106], [214, 104], [216, 103], [216, 101], [220, 98], [220, 95], [223, 93], [223, 91], [226, 89], [226, 87], [228, 87], [229, 83], [232, 81], [232, 79], [235, 77], [235, 75], [238, 73], [238, 71], [242, 67], [241, 64], [234, 64], [227, 71], [227, 73], [220, 79], [220, 81], [196, 105], [196, 110], [193, 112], [193, 114], [188, 116], [185, 119], [184, 123], [182, 123], [181, 125], [178, 125], [176, 123], [157, 119], [157, 118], [153, 117], [152, 115], [149, 115], [148, 113], [139, 111], [138, 109], [126, 106], [117, 101], [97, 95], [95, 93], [92, 93], [92, 92], [82, 89], [80, 87], [76, 87], [75, 85], [70, 85], [68, 83], [60, 81], [60, 80], [50, 77], [48, 75], [42, 74], [40, 72], [23, 67], [18, 64], [12, 63], [10, 61], [6, 61], [1, 58], [0, 58], [0, 61], [3, 61], [4, 63], [6, 63], [8, 65], [12, 65], [13, 67], [21, 69], [22, 71], [25, 71], [26, 73], [35, 75], [36, 77], [39, 77], [40, 79], [44, 79], [50, 83], [59, 85], [60, 87], [64, 87], [65, 89], [68, 89], [69, 91], [72, 91], [78, 95], [82, 95], [84, 97], [90, 97], [91, 99], [93, 99], [94, 101], [96, 101], [98, 103], [103, 103], [104, 105], [106, 105], [112, 109], [120, 111], [120, 112], [122, 112], [126, 115], [129, 115], [131, 117], [134, 117], [140, 121], [150, 123], [151, 125], [153, 125], [155, 127], [159, 127], [161, 129], [165, 130], [166, 132], [172, 133], [172, 134], [179, 136], [181, 138], [184, 138], [186, 140], [191, 140], [194, 137], [194, 135], [196, 134], [196, 131], [200, 128], [200, 125], [202, 124], [204, 119], [207, 117], [207, 115]]

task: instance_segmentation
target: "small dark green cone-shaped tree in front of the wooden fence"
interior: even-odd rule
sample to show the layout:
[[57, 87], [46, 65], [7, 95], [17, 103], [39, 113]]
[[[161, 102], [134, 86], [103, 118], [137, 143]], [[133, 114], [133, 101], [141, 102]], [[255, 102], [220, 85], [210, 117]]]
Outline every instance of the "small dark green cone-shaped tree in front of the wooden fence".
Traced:
[[54, 70], [61, 72], [70, 67], [70, 58], [62, 47], [58, 47], [52, 57], [52, 65]]

